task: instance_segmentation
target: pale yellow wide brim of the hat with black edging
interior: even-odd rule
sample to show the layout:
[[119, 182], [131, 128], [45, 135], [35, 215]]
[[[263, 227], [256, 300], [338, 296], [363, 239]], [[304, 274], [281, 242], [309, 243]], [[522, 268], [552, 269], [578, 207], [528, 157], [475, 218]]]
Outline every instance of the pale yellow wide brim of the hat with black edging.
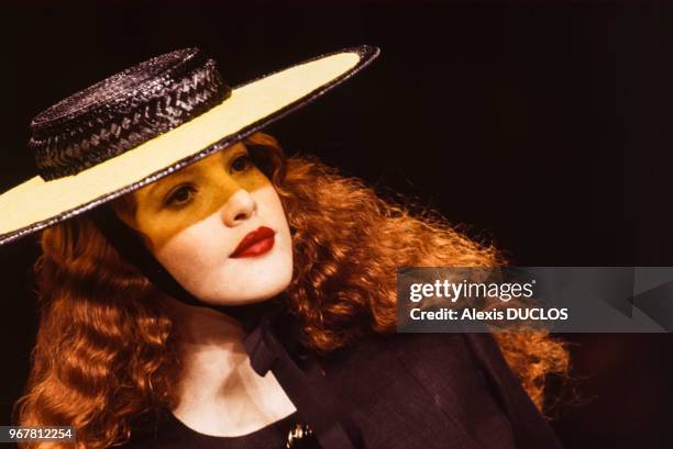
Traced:
[[362, 46], [232, 89], [196, 119], [77, 175], [34, 177], [0, 195], [0, 245], [68, 220], [239, 142], [350, 78], [378, 55]]

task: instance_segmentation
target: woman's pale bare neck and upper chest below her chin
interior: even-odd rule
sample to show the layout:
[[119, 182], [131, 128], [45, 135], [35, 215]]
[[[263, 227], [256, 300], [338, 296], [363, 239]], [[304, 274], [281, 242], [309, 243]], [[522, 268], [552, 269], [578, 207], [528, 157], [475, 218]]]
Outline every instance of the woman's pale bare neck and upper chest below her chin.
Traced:
[[295, 407], [272, 372], [250, 366], [240, 322], [224, 313], [166, 299], [174, 316], [183, 370], [174, 414], [212, 435], [243, 434]]

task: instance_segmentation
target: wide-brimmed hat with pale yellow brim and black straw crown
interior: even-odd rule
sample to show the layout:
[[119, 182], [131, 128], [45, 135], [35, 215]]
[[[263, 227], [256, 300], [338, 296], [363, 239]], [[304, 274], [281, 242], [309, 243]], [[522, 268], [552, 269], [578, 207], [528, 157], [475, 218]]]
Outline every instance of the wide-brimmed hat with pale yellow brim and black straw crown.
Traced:
[[0, 195], [0, 245], [92, 210], [310, 103], [378, 55], [360, 46], [229, 88], [198, 48], [157, 56], [40, 113], [38, 175]]

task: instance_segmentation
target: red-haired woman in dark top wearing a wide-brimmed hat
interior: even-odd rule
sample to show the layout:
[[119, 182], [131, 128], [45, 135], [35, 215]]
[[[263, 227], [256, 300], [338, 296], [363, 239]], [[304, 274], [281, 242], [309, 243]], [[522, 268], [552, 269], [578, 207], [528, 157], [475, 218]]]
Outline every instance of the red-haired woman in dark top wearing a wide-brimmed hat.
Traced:
[[[35, 119], [42, 192], [76, 198], [52, 222], [25, 213], [2, 240], [51, 226], [21, 425], [71, 425], [86, 448], [559, 447], [533, 403], [566, 368], [560, 343], [500, 334], [500, 352], [489, 335], [395, 334], [398, 266], [500, 265], [495, 248], [254, 133], [376, 54], [344, 50], [228, 91], [202, 53], [176, 52]], [[242, 122], [209, 126], [223, 116]], [[73, 121], [86, 145], [73, 144]], [[203, 133], [219, 134], [203, 145]], [[106, 195], [82, 192], [81, 173]]]

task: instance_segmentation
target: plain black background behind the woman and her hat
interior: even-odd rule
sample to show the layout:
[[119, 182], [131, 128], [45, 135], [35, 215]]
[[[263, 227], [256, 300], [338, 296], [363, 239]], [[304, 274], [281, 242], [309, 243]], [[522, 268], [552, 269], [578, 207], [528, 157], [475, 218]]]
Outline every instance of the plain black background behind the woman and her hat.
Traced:
[[[367, 43], [382, 47], [368, 69], [267, 130], [287, 150], [417, 198], [518, 265], [673, 266], [670, 7], [134, 4], [0, 7], [1, 190], [35, 175], [33, 115], [131, 64], [198, 45], [236, 85]], [[33, 237], [0, 249], [0, 424], [29, 369], [36, 256]], [[575, 386], [552, 425], [565, 446], [673, 448], [671, 336], [564, 337]]]

